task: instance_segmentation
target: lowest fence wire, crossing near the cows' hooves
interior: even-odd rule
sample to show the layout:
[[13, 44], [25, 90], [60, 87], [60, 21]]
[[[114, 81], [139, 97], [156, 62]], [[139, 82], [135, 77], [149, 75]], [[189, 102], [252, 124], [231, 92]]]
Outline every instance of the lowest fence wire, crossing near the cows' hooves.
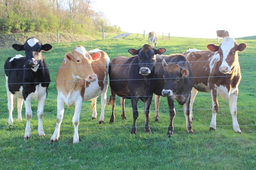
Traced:
[[[221, 126], [233, 126], [233, 125], [216, 125], [216, 127], [221, 127]], [[251, 124], [251, 125], [239, 125], [239, 126], [256, 126], [256, 124]], [[137, 128], [168, 128], [170, 126], [136, 126]], [[185, 128], [185, 127], [209, 127], [209, 125], [195, 125], [195, 126], [172, 126], [173, 128]], [[0, 129], [24, 129], [26, 127], [0, 127]], [[74, 127], [56, 127], [56, 126], [45, 126], [45, 127], [33, 127], [33, 128], [74, 128]], [[78, 126], [77, 128], [131, 128], [131, 126]]]

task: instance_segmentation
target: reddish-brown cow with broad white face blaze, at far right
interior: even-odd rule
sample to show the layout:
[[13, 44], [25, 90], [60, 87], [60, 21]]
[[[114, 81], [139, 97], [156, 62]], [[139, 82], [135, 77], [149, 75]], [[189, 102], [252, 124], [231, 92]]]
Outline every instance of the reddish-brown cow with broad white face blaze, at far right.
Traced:
[[220, 46], [208, 44], [209, 51], [188, 51], [184, 53], [190, 63], [195, 84], [191, 90], [190, 121], [193, 119], [192, 107], [198, 91], [209, 92], [212, 99], [212, 121], [210, 130], [216, 129], [216, 115], [219, 109], [217, 94], [227, 100], [232, 115], [233, 129], [241, 133], [236, 119], [236, 100], [241, 80], [237, 51], [243, 51], [246, 44], [236, 44], [233, 38], [224, 38]]

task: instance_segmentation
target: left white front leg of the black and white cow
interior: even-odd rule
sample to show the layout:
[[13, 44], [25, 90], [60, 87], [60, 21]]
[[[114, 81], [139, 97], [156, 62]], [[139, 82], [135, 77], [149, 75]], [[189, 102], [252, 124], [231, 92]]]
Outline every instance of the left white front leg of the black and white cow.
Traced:
[[27, 99], [24, 101], [25, 107], [26, 107], [26, 128], [25, 128], [25, 135], [24, 135], [24, 140], [30, 139], [30, 133], [31, 133], [31, 128], [30, 128], [30, 120], [32, 117], [32, 109], [31, 109], [31, 99], [30, 97], [27, 97]]

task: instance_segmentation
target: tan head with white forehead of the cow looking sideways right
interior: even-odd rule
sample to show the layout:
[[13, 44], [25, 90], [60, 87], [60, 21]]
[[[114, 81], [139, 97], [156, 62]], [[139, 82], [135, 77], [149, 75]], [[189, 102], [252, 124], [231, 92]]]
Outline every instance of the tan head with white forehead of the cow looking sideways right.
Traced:
[[92, 59], [97, 60], [100, 56], [101, 54], [98, 52], [90, 55], [83, 46], [77, 46], [72, 53], [68, 53], [64, 57], [67, 62], [70, 62], [74, 80], [83, 79], [92, 82], [97, 78], [92, 70]]

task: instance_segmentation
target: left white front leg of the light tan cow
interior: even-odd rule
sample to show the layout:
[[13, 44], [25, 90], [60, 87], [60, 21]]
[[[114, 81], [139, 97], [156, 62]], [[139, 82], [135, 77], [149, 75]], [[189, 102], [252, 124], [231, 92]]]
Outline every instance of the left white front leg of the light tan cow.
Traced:
[[60, 124], [63, 119], [64, 114], [64, 101], [62, 99], [57, 99], [57, 122], [56, 128], [52, 134], [51, 142], [57, 142], [60, 137]]

